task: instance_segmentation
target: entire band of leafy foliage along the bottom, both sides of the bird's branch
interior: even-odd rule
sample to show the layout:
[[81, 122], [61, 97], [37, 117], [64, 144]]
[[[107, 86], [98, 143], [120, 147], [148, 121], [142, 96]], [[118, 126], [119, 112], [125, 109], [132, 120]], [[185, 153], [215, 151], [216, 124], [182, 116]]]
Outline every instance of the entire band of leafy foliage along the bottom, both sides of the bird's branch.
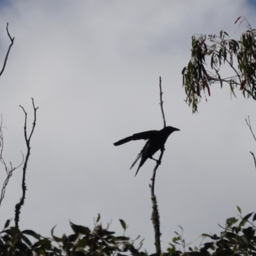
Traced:
[[[246, 216], [241, 215], [241, 208], [237, 207], [238, 216], [227, 218], [225, 227], [221, 227], [220, 234], [202, 234], [202, 241], [198, 246], [191, 247], [186, 244], [182, 234], [175, 232], [175, 237], [166, 252], [161, 256], [256, 256], [256, 213], [251, 212]], [[100, 215], [95, 221], [93, 230], [88, 227], [76, 225], [70, 222], [73, 234], [62, 237], [54, 236], [54, 228], [51, 237], [42, 237], [33, 230], [20, 231], [19, 228], [9, 227], [10, 220], [6, 221], [3, 231], [0, 233], [0, 255], [45, 255], [45, 256], [148, 256], [147, 252], [141, 252], [143, 240], [137, 248], [134, 242], [127, 236], [115, 236], [115, 232], [102, 228], [99, 223]], [[124, 220], [119, 220], [122, 228], [127, 229]], [[33, 238], [33, 242], [31, 241]], [[199, 238], [199, 237], [198, 237]], [[150, 255], [156, 256], [156, 253]]]

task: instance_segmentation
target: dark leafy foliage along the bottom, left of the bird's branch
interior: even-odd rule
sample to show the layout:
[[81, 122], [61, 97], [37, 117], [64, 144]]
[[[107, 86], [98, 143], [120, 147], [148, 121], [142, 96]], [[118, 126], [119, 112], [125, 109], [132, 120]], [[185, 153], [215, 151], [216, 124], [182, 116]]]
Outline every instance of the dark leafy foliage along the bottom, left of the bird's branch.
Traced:
[[[100, 215], [93, 230], [70, 222], [73, 234], [69, 236], [63, 234], [62, 237], [54, 236], [55, 227], [52, 228], [51, 237], [42, 237], [33, 230], [20, 231], [19, 228], [9, 227], [10, 220], [8, 220], [0, 233], [0, 255], [147, 255], [145, 252], [140, 252], [143, 241], [136, 248], [134, 246], [136, 240], [132, 241], [127, 236], [115, 236], [115, 232], [102, 228], [99, 220]], [[127, 227], [125, 222], [120, 220], [120, 223], [125, 230]]]

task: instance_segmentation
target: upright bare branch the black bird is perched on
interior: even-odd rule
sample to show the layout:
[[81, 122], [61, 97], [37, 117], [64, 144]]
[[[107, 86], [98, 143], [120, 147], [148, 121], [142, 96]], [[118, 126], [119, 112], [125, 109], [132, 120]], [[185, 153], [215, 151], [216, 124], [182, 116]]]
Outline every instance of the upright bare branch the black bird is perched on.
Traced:
[[[160, 88], [161, 113], [163, 115], [164, 127], [166, 127], [164, 110], [163, 110], [163, 99], [162, 99], [163, 92], [162, 92], [162, 87], [161, 87], [161, 77], [159, 78], [159, 88]], [[151, 220], [152, 220], [154, 232], [155, 232], [155, 246], [156, 246], [156, 255], [157, 256], [161, 255], [161, 240], [160, 240], [161, 232], [160, 232], [160, 216], [159, 216], [158, 205], [157, 205], [157, 200], [156, 200], [156, 195], [155, 195], [155, 180], [156, 180], [156, 170], [161, 163], [163, 154], [164, 154], [164, 148], [161, 148], [161, 154], [160, 154], [157, 164], [153, 170], [153, 175], [151, 178], [152, 184], [149, 185], [150, 189], [151, 189], [151, 201], [152, 201]]]

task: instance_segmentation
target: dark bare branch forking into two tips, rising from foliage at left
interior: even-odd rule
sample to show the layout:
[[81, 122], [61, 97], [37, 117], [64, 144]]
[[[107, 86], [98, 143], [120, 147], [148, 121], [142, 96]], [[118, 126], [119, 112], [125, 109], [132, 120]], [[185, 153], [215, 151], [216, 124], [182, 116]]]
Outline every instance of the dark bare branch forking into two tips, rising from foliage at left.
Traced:
[[24, 136], [25, 136], [25, 141], [26, 141], [26, 145], [27, 145], [27, 154], [26, 154], [26, 158], [25, 158], [25, 162], [24, 162], [24, 166], [23, 166], [23, 176], [22, 176], [22, 197], [20, 198], [20, 202], [18, 204], [15, 205], [15, 227], [19, 228], [19, 215], [20, 215], [20, 208], [22, 205], [24, 205], [24, 200], [25, 200], [25, 196], [26, 196], [26, 183], [25, 183], [25, 179], [26, 179], [26, 169], [28, 166], [28, 159], [29, 159], [29, 155], [30, 155], [30, 139], [31, 136], [34, 132], [35, 126], [36, 126], [36, 110], [38, 109], [35, 108], [35, 104], [34, 104], [34, 99], [32, 99], [32, 103], [33, 103], [33, 108], [34, 108], [34, 122], [33, 122], [33, 126], [32, 126], [32, 130], [29, 134], [27, 134], [27, 113], [25, 111], [25, 109], [20, 106], [20, 108], [23, 109], [24, 113], [25, 113], [25, 124], [24, 124]]

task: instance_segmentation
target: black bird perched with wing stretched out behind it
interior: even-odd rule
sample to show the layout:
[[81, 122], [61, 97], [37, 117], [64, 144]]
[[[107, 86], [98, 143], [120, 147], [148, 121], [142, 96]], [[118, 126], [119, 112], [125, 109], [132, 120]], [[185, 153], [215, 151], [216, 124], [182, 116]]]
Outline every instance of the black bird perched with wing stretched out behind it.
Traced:
[[[177, 128], [174, 128], [172, 126], [167, 126], [161, 129], [160, 131], [147, 131], [147, 132], [140, 132], [133, 134], [132, 136], [129, 136], [127, 138], [124, 138], [123, 140], [117, 141], [114, 143], [115, 146], [122, 145], [124, 143], [127, 143], [131, 140], [148, 140], [145, 144], [145, 146], [142, 148], [140, 154], [136, 157], [134, 163], [132, 164], [131, 168], [134, 166], [134, 164], [137, 163], [137, 161], [141, 157], [141, 161], [138, 167], [138, 170], [135, 174], [139, 172], [141, 166], [147, 161], [148, 158], [153, 159], [158, 162], [157, 159], [153, 158], [153, 155], [159, 150], [164, 150], [164, 144], [166, 143], [166, 140], [172, 134], [174, 131], [180, 131]], [[130, 168], [130, 170], [131, 170]]]

